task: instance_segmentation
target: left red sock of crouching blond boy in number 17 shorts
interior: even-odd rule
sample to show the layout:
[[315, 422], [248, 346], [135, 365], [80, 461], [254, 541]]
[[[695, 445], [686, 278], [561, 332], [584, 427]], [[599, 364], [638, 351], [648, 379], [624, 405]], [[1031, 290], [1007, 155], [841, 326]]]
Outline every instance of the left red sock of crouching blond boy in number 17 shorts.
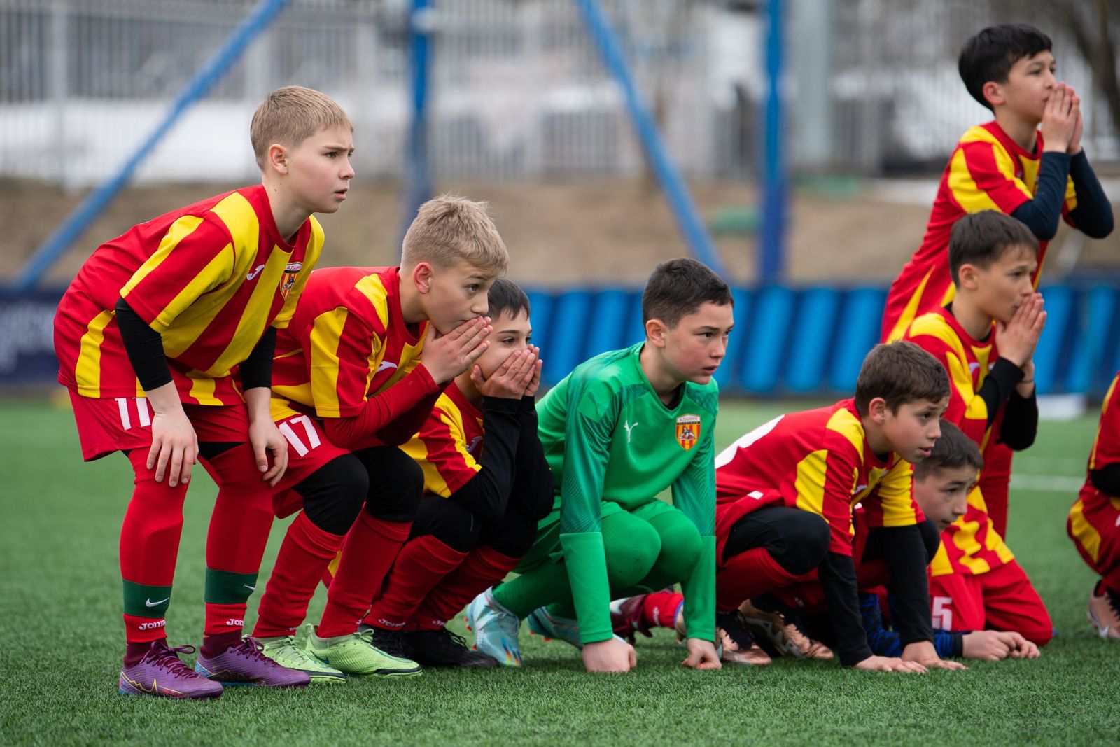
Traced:
[[300, 512], [288, 527], [280, 545], [261, 606], [256, 613], [253, 637], [271, 638], [295, 633], [307, 617], [307, 605], [323, 569], [343, 547], [345, 534], [332, 534], [315, 525]]

